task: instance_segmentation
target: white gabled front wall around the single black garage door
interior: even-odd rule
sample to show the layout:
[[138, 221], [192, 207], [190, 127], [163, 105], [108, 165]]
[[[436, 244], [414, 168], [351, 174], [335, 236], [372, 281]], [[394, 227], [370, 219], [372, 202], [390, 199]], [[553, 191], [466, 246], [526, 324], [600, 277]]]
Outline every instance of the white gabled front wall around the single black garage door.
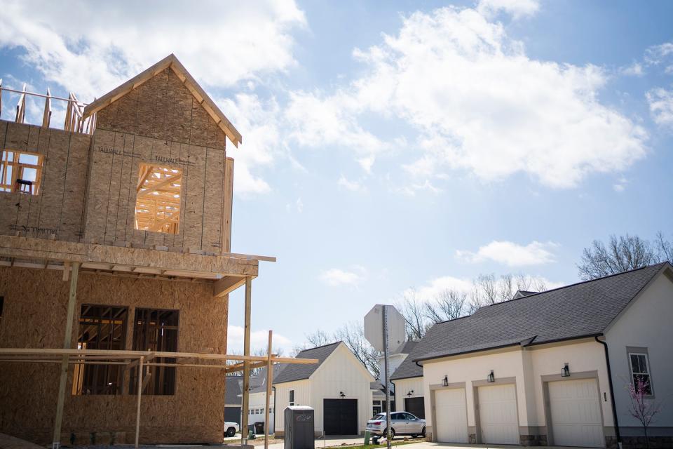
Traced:
[[[322, 400], [338, 399], [341, 391], [347, 399], [358, 400], [358, 432], [367, 427], [367, 420], [372, 417], [372, 390], [370, 382], [374, 377], [344, 344], [322, 363], [311, 376], [311, 403], [315, 408], [315, 431], [322, 432]], [[278, 408], [280, 410], [280, 407]]]

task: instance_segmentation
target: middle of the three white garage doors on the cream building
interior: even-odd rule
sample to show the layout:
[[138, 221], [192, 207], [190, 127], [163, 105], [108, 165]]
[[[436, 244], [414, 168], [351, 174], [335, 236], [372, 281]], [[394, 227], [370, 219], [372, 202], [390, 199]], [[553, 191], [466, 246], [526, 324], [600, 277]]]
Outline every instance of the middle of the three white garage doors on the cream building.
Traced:
[[517, 389], [510, 385], [479, 387], [482, 443], [519, 444]]

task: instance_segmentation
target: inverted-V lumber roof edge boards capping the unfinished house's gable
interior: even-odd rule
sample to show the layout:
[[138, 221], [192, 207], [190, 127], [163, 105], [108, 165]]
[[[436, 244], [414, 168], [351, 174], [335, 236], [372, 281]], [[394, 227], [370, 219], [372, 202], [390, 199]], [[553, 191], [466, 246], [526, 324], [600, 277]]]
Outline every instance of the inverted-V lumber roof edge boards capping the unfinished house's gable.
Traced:
[[226, 118], [219, 107], [215, 105], [215, 102], [212, 101], [205, 91], [203, 91], [203, 88], [198, 85], [196, 80], [193, 79], [193, 76], [187, 72], [187, 69], [184, 68], [184, 65], [182, 65], [182, 63], [179, 62], [179, 60], [172, 53], [163, 58], [163, 60], [157, 62], [155, 65], [149, 67], [149, 69], [144, 70], [144, 72], [141, 72], [140, 74], [137, 74], [130, 80], [126, 81], [121, 86], [114, 88], [113, 90], [103, 95], [101, 98], [98, 98], [94, 102], [89, 103], [84, 108], [84, 118], [100, 111], [100, 109], [103, 109], [119, 98], [122, 98], [124, 95], [137, 88], [145, 81], [151, 79], [156, 74], [163, 72], [163, 70], [167, 69], [168, 67], [170, 67], [173, 72], [175, 72], [177, 77], [184, 83], [184, 86], [189, 89], [189, 92], [191, 92], [191, 95], [196, 98], [201, 107], [203, 107], [203, 109], [205, 109], [206, 112], [210, 114], [215, 123], [217, 123], [217, 126], [219, 126], [224, 134], [226, 134], [226, 137], [231, 140], [231, 143], [233, 143], [235, 147], [238, 147], [238, 144], [243, 141], [243, 138], [241, 137], [238, 130], [234, 128], [234, 126], [231, 124], [231, 121]]

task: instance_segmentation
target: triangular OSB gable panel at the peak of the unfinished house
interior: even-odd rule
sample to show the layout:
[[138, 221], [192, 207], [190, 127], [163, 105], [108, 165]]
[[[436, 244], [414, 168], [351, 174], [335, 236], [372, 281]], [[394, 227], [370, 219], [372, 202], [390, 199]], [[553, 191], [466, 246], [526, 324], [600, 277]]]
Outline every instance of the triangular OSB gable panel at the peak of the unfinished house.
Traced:
[[226, 138], [170, 68], [97, 112], [96, 126], [219, 149]]

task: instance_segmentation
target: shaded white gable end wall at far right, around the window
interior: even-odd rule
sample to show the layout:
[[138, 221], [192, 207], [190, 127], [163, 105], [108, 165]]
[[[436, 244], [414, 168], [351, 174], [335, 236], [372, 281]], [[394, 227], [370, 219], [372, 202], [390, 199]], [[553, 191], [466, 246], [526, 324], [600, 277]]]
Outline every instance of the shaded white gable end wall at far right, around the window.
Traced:
[[[673, 406], [669, 399], [673, 398], [673, 382], [669, 380], [673, 373], [672, 322], [673, 282], [664, 275], [655, 279], [606, 333], [620, 427], [639, 425], [628, 413], [630, 401], [625, 386], [631, 374], [627, 347], [647, 348], [655, 399], [665, 403], [652, 429], [673, 427]], [[603, 415], [607, 417], [605, 411]]]

